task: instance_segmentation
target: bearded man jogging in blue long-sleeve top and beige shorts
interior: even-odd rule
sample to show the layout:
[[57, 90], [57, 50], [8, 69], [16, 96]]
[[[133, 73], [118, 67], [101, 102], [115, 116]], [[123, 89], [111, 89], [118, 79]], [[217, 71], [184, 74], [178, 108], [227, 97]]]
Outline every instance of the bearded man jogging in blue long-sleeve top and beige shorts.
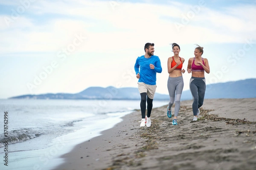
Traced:
[[[140, 92], [140, 110], [141, 110], [141, 123], [140, 127], [151, 126], [151, 110], [153, 108], [154, 94], [157, 88], [156, 80], [157, 73], [162, 72], [161, 62], [158, 56], [154, 56], [154, 43], [146, 43], [144, 46], [145, 55], [136, 59], [134, 65], [136, 77], [138, 81], [138, 89]], [[147, 102], [147, 116], [146, 112]]]

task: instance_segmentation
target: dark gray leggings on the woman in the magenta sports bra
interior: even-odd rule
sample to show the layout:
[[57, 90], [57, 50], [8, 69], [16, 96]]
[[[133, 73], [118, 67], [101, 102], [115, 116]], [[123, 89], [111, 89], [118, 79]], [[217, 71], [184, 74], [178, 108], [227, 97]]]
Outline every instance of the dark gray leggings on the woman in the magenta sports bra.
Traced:
[[193, 97], [192, 110], [194, 116], [196, 116], [198, 108], [200, 108], [204, 103], [204, 94], [206, 90], [205, 78], [191, 77], [189, 88]]

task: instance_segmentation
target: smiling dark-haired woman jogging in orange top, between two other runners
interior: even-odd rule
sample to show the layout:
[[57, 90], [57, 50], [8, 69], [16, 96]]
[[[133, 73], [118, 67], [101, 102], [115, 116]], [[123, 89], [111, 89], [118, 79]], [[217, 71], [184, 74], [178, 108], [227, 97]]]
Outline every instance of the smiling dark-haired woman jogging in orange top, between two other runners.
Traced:
[[182, 73], [185, 73], [185, 70], [182, 69], [182, 66], [185, 59], [179, 56], [180, 46], [178, 44], [172, 44], [172, 51], [174, 56], [168, 58], [169, 78], [167, 82], [167, 88], [169, 91], [170, 101], [167, 107], [167, 116], [169, 118], [172, 117], [172, 105], [175, 102], [175, 113], [174, 119], [172, 120], [172, 125], [177, 125], [177, 116], [180, 111], [180, 97], [184, 86]]

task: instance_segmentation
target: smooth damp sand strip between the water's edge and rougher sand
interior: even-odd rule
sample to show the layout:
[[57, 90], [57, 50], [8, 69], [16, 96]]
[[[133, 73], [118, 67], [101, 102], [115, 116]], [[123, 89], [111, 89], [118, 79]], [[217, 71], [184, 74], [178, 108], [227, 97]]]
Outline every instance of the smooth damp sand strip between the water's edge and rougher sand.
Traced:
[[[112, 148], [125, 148], [127, 144], [122, 141], [125, 141], [128, 135], [131, 135], [131, 133], [128, 134], [131, 129], [127, 129], [127, 127], [130, 128], [132, 126], [132, 129], [137, 129], [136, 124], [134, 124], [134, 117], [138, 117], [138, 120], [135, 121], [138, 122], [140, 118], [138, 111], [121, 117], [122, 122], [102, 131], [101, 135], [77, 144], [71, 152], [61, 156], [61, 159], [64, 159], [65, 162], [52, 170], [73, 170], [76, 169], [74, 167], [79, 167], [77, 170], [80, 168], [101, 170], [111, 166], [111, 155], [115, 154], [115, 151], [111, 152]], [[124, 124], [124, 121], [127, 122]], [[139, 125], [139, 123], [137, 124]], [[119, 138], [118, 140], [120, 141], [116, 141], [116, 138]], [[88, 163], [84, 164], [84, 162]]]

